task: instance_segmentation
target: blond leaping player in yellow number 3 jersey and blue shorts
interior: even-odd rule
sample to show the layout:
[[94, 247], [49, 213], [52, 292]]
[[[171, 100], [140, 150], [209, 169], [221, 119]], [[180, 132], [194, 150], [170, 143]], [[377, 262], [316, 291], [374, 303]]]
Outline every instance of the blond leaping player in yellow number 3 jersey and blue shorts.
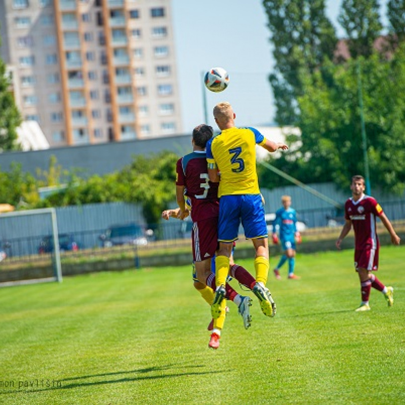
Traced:
[[241, 222], [245, 236], [252, 239], [255, 248], [256, 281], [252, 291], [259, 299], [262, 312], [266, 316], [274, 316], [276, 306], [266, 288], [268, 235], [256, 173], [256, 144], [269, 152], [287, 150], [288, 146], [266, 139], [254, 128], [236, 128], [235, 117], [228, 102], [218, 103], [214, 107], [214, 118], [221, 133], [207, 143], [208, 174], [212, 182], [219, 182], [220, 197], [219, 251], [215, 259], [217, 289], [211, 312], [213, 318], [217, 318], [225, 310], [224, 286], [229, 258]]

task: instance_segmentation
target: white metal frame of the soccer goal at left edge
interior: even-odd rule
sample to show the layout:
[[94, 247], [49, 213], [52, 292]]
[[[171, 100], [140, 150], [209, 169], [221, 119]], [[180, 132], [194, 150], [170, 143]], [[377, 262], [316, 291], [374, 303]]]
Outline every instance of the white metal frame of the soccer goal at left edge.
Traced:
[[62, 282], [63, 281], [62, 266], [61, 266], [61, 261], [60, 261], [58, 221], [57, 221], [57, 217], [56, 217], [55, 208], [42, 208], [42, 209], [37, 209], [37, 210], [25, 210], [25, 211], [14, 211], [14, 212], [3, 213], [3, 214], [0, 214], [0, 226], [1, 226], [2, 218], [21, 217], [21, 216], [38, 215], [38, 214], [49, 214], [51, 216], [52, 237], [53, 237], [53, 244], [54, 244], [54, 250], [51, 254], [51, 260], [53, 262], [52, 264], [53, 264], [54, 275], [52, 277], [45, 277], [45, 278], [3, 281], [3, 282], [0, 282], [0, 287], [10, 287], [10, 286], [25, 285], [25, 284], [36, 284], [39, 282], [51, 282], [51, 281]]

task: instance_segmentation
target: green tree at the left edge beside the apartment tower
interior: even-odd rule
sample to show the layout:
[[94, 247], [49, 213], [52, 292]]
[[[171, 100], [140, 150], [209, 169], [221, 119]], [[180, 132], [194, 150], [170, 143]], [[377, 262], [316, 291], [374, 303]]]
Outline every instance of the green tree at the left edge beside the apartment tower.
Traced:
[[[1, 38], [0, 38], [1, 46]], [[10, 92], [6, 64], [0, 59], [0, 151], [19, 150], [16, 128], [21, 124], [21, 115]]]

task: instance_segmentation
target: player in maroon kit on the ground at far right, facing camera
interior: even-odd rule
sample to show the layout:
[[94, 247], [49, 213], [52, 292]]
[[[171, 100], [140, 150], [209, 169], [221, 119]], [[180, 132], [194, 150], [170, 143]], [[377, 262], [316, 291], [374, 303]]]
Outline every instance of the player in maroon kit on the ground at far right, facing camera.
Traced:
[[356, 311], [368, 311], [371, 288], [382, 292], [388, 302], [388, 306], [394, 303], [393, 288], [385, 287], [382, 282], [372, 273], [378, 270], [378, 253], [380, 244], [376, 230], [376, 217], [379, 217], [389, 234], [391, 242], [399, 245], [400, 238], [395, 233], [391, 222], [384, 214], [376, 199], [365, 195], [365, 181], [362, 176], [353, 176], [350, 189], [352, 197], [345, 204], [345, 219], [342, 232], [336, 241], [336, 247], [340, 249], [343, 238], [354, 229], [355, 250], [354, 266], [358, 273], [361, 286], [361, 304]]

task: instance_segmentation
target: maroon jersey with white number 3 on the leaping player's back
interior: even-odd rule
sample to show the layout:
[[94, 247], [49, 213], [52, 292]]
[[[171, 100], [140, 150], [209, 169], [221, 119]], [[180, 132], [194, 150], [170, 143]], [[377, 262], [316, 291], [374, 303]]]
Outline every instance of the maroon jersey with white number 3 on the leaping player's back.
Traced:
[[193, 222], [218, 217], [219, 184], [209, 180], [206, 152], [194, 151], [177, 161], [176, 185], [185, 187], [185, 195], [191, 201]]

